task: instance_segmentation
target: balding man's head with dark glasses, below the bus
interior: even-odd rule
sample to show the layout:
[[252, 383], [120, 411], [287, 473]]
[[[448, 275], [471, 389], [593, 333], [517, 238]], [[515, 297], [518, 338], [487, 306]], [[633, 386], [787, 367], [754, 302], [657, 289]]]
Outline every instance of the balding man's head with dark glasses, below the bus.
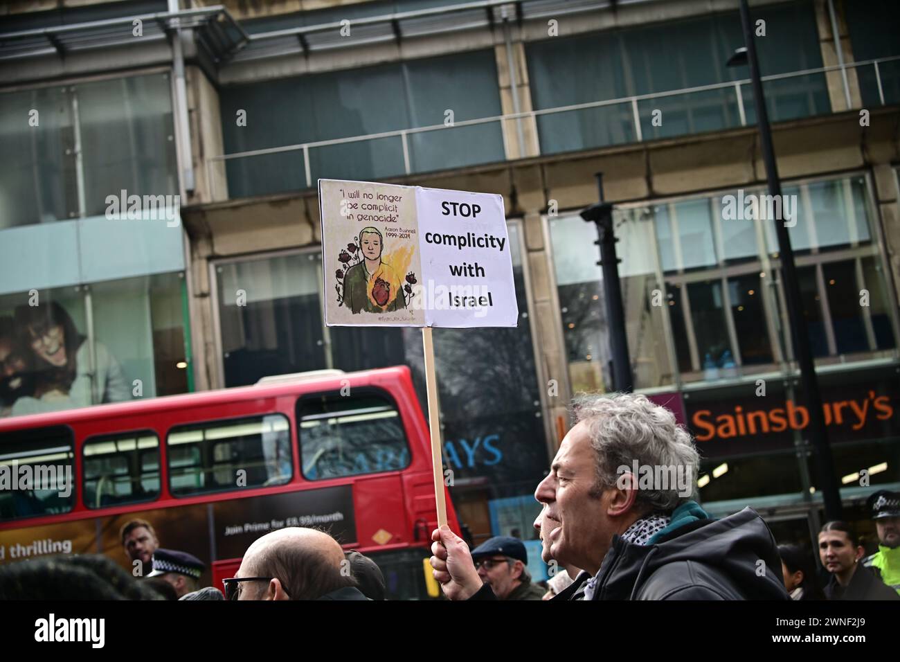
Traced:
[[241, 582], [240, 596], [247, 600], [315, 600], [356, 585], [343, 561], [344, 550], [328, 533], [302, 527], [266, 533], [247, 549], [237, 576], [272, 579], [268, 583]]

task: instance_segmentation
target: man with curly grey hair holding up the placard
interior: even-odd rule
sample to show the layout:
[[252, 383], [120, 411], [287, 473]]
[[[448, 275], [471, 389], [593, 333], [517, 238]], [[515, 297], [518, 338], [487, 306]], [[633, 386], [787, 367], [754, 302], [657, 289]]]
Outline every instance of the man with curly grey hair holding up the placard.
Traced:
[[[537, 485], [544, 560], [583, 568], [554, 600], [787, 600], [769, 528], [751, 508], [715, 521], [693, 500], [698, 451], [670, 411], [640, 394], [582, 395]], [[492, 599], [462, 540], [432, 534], [451, 600]], [[546, 544], [549, 543], [549, 544]]]

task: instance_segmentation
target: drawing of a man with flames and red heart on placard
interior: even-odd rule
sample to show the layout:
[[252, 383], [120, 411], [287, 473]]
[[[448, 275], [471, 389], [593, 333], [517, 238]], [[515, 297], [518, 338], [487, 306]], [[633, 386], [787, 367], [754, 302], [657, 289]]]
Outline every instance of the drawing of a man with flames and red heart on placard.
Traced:
[[344, 275], [343, 301], [351, 313], [392, 313], [406, 308], [403, 281], [382, 260], [383, 246], [382, 233], [377, 228], [369, 226], [360, 231], [359, 249], [363, 259], [347, 268]]

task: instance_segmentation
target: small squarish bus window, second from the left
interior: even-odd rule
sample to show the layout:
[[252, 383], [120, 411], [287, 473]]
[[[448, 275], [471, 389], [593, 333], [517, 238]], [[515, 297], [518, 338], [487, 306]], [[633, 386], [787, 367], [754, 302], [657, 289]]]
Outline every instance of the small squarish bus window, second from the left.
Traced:
[[85, 505], [104, 508], [159, 496], [159, 438], [140, 431], [93, 437], [82, 450]]

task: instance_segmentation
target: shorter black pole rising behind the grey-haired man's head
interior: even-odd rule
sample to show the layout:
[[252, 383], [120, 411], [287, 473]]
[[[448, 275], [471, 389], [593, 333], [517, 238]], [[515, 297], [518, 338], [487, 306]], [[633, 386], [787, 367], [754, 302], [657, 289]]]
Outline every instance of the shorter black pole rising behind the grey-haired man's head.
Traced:
[[603, 202], [603, 173], [597, 173], [599, 204], [591, 204], [581, 212], [581, 218], [597, 225], [603, 268], [603, 300], [606, 303], [609, 328], [609, 348], [612, 352], [612, 387], [616, 391], [631, 392], [635, 384], [631, 376], [631, 359], [628, 358], [628, 337], [625, 327], [625, 308], [622, 305], [622, 284], [618, 277], [619, 259], [616, 257], [616, 239], [613, 233], [613, 205]]

